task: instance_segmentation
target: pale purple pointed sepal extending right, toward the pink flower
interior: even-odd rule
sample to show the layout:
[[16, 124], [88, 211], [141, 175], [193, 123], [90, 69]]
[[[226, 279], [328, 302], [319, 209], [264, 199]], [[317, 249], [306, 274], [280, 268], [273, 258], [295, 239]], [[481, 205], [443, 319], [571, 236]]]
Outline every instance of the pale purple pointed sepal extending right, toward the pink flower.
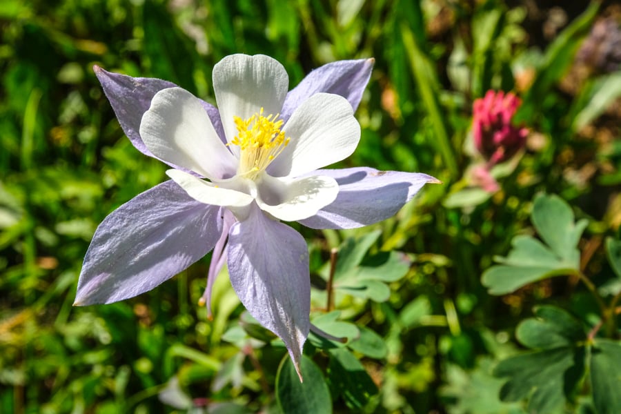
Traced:
[[378, 171], [374, 168], [317, 170], [337, 180], [339, 195], [317, 215], [299, 222], [311, 228], [357, 228], [392, 217], [425, 184], [440, 184], [420, 172]]

